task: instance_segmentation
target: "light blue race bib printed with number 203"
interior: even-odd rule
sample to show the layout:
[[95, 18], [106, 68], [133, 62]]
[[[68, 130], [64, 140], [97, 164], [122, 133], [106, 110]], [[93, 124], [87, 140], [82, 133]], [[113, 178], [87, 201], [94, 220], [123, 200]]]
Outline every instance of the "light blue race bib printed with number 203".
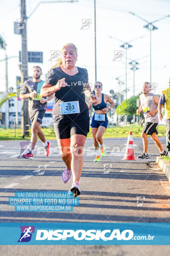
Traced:
[[60, 103], [60, 111], [62, 115], [79, 113], [79, 102], [62, 102]]

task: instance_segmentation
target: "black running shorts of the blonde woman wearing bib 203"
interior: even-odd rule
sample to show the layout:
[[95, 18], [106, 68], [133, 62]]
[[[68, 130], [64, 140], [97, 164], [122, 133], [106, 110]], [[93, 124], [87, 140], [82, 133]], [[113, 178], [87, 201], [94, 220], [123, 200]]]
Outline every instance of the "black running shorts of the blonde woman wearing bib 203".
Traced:
[[87, 137], [89, 132], [89, 119], [75, 120], [74, 122], [54, 125], [54, 131], [57, 139], [68, 139], [74, 134], [81, 134]]

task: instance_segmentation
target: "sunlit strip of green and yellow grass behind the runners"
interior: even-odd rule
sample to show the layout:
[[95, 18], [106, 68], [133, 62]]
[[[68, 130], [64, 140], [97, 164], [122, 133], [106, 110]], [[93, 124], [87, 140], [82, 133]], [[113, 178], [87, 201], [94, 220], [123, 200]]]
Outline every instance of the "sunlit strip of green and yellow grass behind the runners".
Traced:
[[[125, 138], [128, 137], [129, 131], [133, 132], [133, 137], [140, 137], [143, 127], [136, 125], [131, 126], [118, 126], [114, 125], [113, 127], [107, 128], [104, 134], [104, 138]], [[42, 129], [47, 140], [56, 140], [54, 129], [53, 128], [43, 128]], [[166, 136], [166, 128], [164, 125], [158, 126], [158, 136]], [[31, 130], [30, 130], [31, 135]], [[88, 133], [88, 138], [92, 138], [91, 129]], [[0, 128], [0, 140], [23, 140], [21, 129], [16, 129], [16, 134], [14, 128], [3, 129]], [[30, 140], [30, 137], [26, 137], [26, 140]]]

